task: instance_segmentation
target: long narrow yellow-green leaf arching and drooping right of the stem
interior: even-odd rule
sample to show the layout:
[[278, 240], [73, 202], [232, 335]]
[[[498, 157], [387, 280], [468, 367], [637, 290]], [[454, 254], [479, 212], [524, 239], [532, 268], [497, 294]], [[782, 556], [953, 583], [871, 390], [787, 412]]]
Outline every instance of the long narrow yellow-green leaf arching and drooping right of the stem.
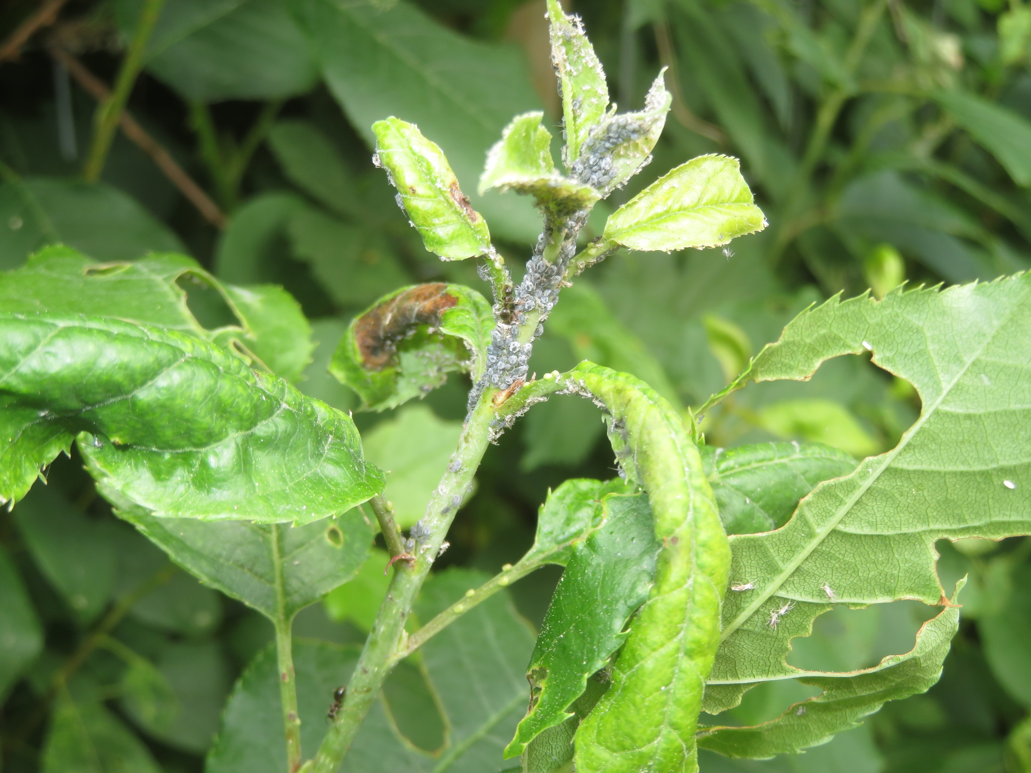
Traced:
[[603, 406], [617, 460], [647, 494], [662, 543], [655, 584], [617, 657], [611, 687], [576, 731], [576, 770], [694, 770], [730, 562], [701, 458], [668, 402], [643, 381], [593, 363], [527, 384], [502, 404], [498, 426], [556, 392]]

